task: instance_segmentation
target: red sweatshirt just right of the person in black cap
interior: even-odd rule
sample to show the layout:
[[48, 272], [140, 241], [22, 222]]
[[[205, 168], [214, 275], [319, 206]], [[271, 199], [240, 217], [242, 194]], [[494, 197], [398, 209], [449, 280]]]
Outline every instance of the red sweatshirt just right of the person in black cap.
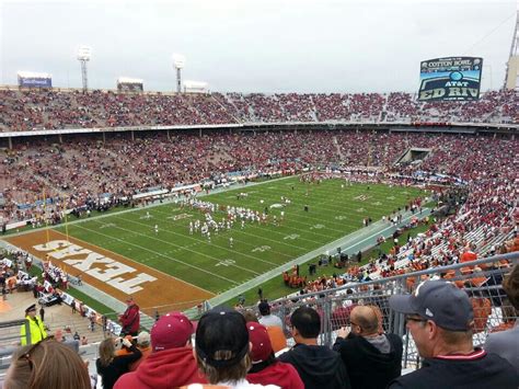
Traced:
[[274, 362], [263, 370], [249, 373], [246, 380], [251, 384], [277, 385], [281, 389], [304, 389], [296, 368], [279, 361]]

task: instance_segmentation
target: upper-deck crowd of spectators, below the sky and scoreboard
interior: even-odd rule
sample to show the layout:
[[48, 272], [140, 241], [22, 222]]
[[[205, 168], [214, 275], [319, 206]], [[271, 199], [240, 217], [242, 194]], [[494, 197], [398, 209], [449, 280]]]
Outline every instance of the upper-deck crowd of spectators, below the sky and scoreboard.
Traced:
[[518, 123], [519, 95], [491, 91], [472, 102], [418, 102], [389, 94], [124, 94], [0, 90], [0, 131], [284, 122]]

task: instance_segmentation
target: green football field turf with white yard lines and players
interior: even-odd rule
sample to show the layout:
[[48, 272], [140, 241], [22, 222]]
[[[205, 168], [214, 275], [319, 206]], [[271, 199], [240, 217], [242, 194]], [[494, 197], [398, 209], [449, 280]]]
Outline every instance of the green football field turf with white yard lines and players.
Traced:
[[[238, 198], [241, 193], [246, 196]], [[210, 230], [210, 241], [200, 231], [189, 233], [189, 221], [204, 222], [204, 213], [174, 203], [69, 224], [68, 233], [219, 294], [362, 228], [366, 217], [380, 220], [417, 196], [425, 196], [424, 191], [289, 178], [200, 196], [220, 209], [268, 210], [268, 222], [245, 221], [242, 228], [237, 220], [230, 229]], [[227, 220], [227, 213], [218, 210], [212, 218]], [[58, 230], [65, 232], [65, 227]]]

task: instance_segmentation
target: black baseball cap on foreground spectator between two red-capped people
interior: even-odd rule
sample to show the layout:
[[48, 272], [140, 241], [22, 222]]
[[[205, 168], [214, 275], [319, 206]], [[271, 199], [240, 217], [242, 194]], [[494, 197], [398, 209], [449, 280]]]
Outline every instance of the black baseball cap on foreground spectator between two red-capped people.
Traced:
[[[216, 367], [238, 364], [249, 353], [249, 332], [243, 314], [230, 308], [215, 308], [198, 321], [195, 350], [204, 363]], [[216, 358], [219, 351], [228, 351], [227, 359]]]

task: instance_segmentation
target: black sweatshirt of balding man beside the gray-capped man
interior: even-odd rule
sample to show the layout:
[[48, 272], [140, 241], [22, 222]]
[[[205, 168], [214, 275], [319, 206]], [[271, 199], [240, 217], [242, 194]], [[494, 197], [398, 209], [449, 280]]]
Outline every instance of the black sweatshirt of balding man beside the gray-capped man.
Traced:
[[333, 345], [343, 358], [353, 389], [383, 389], [400, 377], [402, 348], [402, 340], [394, 334], [364, 337], [351, 332], [346, 339], [337, 337]]

